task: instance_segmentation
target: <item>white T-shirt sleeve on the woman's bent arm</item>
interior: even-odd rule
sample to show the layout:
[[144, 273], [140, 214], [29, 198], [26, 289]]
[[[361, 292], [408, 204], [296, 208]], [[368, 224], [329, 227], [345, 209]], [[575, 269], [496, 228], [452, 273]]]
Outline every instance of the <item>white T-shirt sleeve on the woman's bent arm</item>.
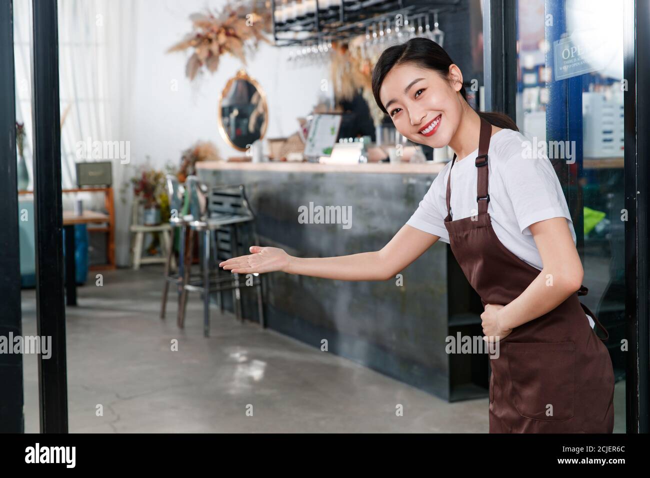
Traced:
[[573, 233], [560, 179], [545, 155], [528, 157], [517, 152], [508, 159], [503, 171], [506, 190], [522, 234], [532, 235], [530, 224], [553, 217], [567, 219]]

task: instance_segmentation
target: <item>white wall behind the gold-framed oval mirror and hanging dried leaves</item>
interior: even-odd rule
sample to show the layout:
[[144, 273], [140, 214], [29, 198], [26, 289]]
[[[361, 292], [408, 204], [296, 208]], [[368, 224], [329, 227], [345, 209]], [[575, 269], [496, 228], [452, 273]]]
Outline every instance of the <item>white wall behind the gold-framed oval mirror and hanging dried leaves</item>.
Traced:
[[[244, 153], [231, 148], [217, 125], [220, 92], [242, 63], [223, 55], [215, 73], [205, 70], [190, 82], [185, 62], [190, 51], [165, 53], [191, 29], [188, 16], [204, 7], [220, 8], [223, 1], [136, 0], [136, 73], [131, 153], [136, 161], [150, 155], [163, 165], [178, 163], [181, 152], [196, 140], [211, 140], [223, 157]], [[266, 93], [269, 124], [266, 138], [285, 137], [298, 129], [298, 116], [305, 116], [317, 103], [320, 80], [329, 77], [326, 67], [287, 66], [289, 49], [261, 44], [246, 71]], [[177, 83], [177, 90], [172, 84]]]

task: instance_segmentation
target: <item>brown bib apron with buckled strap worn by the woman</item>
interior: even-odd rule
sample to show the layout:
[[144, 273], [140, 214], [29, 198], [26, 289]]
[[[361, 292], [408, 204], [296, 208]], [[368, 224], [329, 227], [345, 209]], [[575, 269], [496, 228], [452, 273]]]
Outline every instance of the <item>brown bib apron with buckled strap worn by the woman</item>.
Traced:
[[[515, 256], [495, 234], [487, 213], [487, 151], [491, 125], [481, 118], [476, 157], [478, 215], [452, 220], [451, 168], [447, 179], [445, 226], [454, 257], [483, 306], [505, 306], [539, 276], [539, 269]], [[452, 166], [456, 161], [456, 155]], [[467, 161], [467, 159], [465, 159]], [[474, 219], [474, 220], [472, 220]], [[614, 370], [607, 348], [585, 317], [607, 330], [578, 300], [581, 286], [562, 304], [513, 328], [491, 356], [490, 433], [611, 433], [614, 429]]]

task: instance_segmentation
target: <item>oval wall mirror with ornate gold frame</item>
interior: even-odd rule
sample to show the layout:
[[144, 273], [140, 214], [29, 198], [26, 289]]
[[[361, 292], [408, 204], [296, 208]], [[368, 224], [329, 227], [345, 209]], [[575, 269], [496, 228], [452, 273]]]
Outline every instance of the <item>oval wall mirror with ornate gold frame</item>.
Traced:
[[239, 151], [263, 139], [268, 124], [266, 96], [244, 70], [226, 83], [219, 98], [218, 121], [224, 140]]

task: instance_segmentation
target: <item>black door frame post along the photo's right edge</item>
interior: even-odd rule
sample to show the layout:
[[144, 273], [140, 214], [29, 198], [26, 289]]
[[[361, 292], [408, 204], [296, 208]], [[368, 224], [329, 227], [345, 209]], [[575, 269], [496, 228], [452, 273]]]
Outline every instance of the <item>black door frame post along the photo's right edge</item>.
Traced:
[[[647, 185], [650, 168], [647, 158], [650, 142], [650, 3], [646, 0], [625, 0], [625, 39], [623, 43], [623, 77], [628, 88], [623, 94], [625, 109], [625, 312], [629, 356], [626, 384], [627, 431], [647, 433], [648, 428], [648, 364], [649, 362], [649, 297], [648, 224], [650, 208]], [[636, 25], [643, 25], [636, 28]], [[638, 55], [638, 52], [642, 52]], [[637, 132], [642, 131], [638, 135]]]

